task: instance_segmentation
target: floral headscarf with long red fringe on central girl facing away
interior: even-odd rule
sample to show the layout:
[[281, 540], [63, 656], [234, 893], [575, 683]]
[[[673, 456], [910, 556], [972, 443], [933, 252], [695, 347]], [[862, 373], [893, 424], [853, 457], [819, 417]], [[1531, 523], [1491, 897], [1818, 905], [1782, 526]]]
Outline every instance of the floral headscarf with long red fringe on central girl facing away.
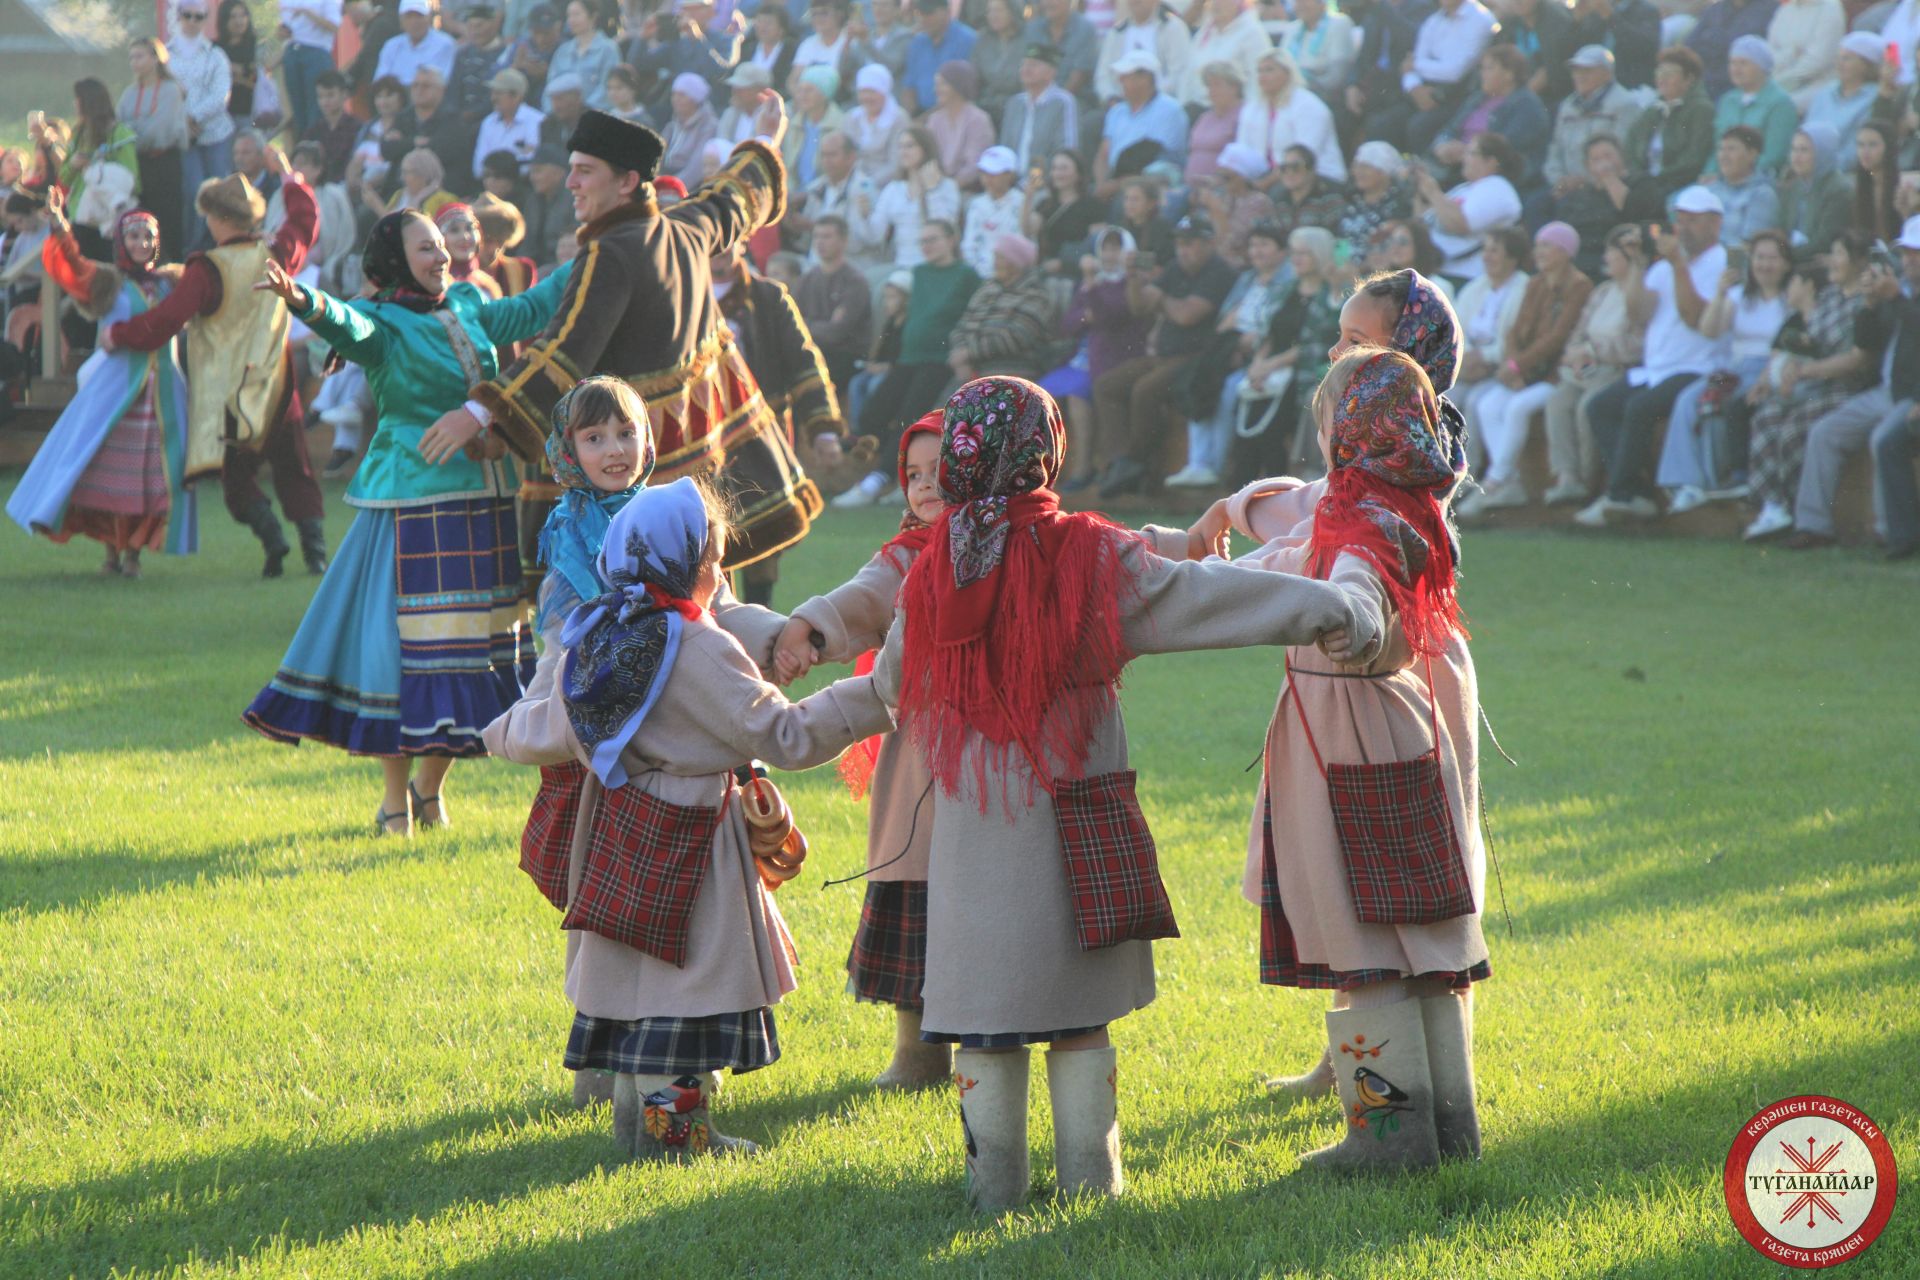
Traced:
[[935, 520], [900, 601], [900, 722], [958, 794], [962, 760], [981, 808], [1025, 764], [1025, 791], [1079, 777], [1127, 662], [1116, 557], [1127, 533], [1064, 514], [1052, 482], [1066, 457], [1054, 397], [1021, 378], [977, 378], [947, 401]]

